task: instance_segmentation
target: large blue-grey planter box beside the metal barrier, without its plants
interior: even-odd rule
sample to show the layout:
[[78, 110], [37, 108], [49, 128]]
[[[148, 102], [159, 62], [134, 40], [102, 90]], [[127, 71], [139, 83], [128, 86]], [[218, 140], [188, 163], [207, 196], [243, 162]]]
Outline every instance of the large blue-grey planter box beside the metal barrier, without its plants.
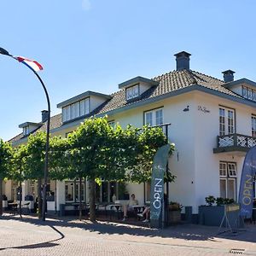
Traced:
[[198, 207], [199, 224], [207, 226], [219, 226], [224, 217], [224, 206]]

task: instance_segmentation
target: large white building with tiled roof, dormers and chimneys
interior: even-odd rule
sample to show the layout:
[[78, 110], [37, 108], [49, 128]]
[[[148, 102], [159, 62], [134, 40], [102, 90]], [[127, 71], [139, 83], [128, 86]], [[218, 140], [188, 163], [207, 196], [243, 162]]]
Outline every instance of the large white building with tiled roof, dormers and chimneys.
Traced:
[[[237, 200], [244, 156], [256, 145], [256, 83], [234, 80], [231, 70], [223, 72], [224, 80], [215, 79], [190, 70], [189, 53], [175, 56], [177, 70], [173, 72], [127, 80], [112, 95], [86, 91], [59, 103], [61, 114], [51, 118], [50, 132], [65, 137], [91, 115], [108, 114], [109, 121], [122, 126], [171, 123], [169, 139], [177, 151], [169, 167], [177, 178], [169, 184], [169, 199], [192, 207], [197, 214], [208, 195]], [[20, 125], [24, 133], [10, 142], [14, 146], [26, 143], [28, 134], [45, 130], [44, 117], [45, 112], [41, 123]], [[78, 199], [79, 184], [73, 181], [56, 186], [51, 182], [51, 189], [56, 192], [58, 211], [60, 204]], [[114, 189], [114, 183], [103, 183], [99, 200], [111, 201]], [[129, 183], [126, 189], [141, 204], [148, 201], [148, 184]], [[87, 198], [84, 190], [83, 198]], [[32, 193], [28, 183], [24, 191]], [[6, 191], [9, 198], [12, 193]]]

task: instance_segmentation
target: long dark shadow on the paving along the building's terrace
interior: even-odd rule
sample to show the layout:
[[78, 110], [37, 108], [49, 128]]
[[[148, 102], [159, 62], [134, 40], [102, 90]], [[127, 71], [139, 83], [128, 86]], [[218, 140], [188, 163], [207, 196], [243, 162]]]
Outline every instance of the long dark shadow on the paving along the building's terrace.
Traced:
[[[23, 216], [23, 218], [14, 216], [3, 216], [3, 219], [15, 219], [20, 222], [26, 222], [36, 225], [48, 225], [55, 231], [59, 232], [64, 238], [64, 235], [55, 227], [70, 227], [88, 230], [90, 232], [97, 232], [99, 234], [117, 234], [117, 235], [131, 235], [131, 236], [159, 236], [162, 238], [179, 238], [188, 241], [215, 241], [217, 237], [225, 238], [236, 241], [249, 241], [256, 242], [256, 225], [247, 225], [245, 230], [238, 231], [237, 233], [224, 232], [218, 234], [218, 227], [202, 226], [197, 224], [179, 224], [170, 226], [166, 229], [155, 230], [147, 227], [136, 226], [129, 222], [114, 223], [108, 221], [97, 221], [95, 223], [89, 220], [79, 221], [74, 218], [47, 218], [45, 222], [30, 216]], [[60, 240], [58, 239], [58, 240]], [[49, 241], [53, 242], [53, 241]]]

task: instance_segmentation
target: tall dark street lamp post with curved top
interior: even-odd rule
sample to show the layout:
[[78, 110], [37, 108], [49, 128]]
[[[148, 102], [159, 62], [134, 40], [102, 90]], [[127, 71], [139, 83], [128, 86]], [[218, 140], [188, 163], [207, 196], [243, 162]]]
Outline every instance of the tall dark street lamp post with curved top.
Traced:
[[[10, 55], [9, 52], [6, 49], [3, 49], [0, 47], [0, 54], [1, 55], [8, 55], [9, 57], [14, 58], [17, 60], [13, 55]], [[18, 60], [19, 61], [19, 60]], [[26, 65], [26, 63], [24, 63]], [[50, 123], [50, 102], [49, 102], [49, 94], [46, 90], [46, 87], [44, 85], [43, 80], [39, 77], [38, 73], [30, 66], [26, 65], [26, 67], [29, 67], [32, 72], [37, 76], [38, 80], [43, 86], [44, 93], [47, 100], [48, 105], [48, 119], [47, 119], [47, 126], [46, 126], [46, 144], [45, 144], [45, 160], [44, 160], [44, 190], [43, 190], [43, 212], [42, 212], [42, 220], [45, 221], [45, 211], [46, 211], [46, 186], [48, 181], [48, 160], [49, 160], [49, 123]]]

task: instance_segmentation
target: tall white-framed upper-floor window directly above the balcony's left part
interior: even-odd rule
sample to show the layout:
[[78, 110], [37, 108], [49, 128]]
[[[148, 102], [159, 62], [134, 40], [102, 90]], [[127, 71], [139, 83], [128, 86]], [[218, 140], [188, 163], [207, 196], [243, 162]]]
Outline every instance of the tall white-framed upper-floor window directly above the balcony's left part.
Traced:
[[219, 135], [224, 136], [235, 132], [235, 110], [219, 108]]

